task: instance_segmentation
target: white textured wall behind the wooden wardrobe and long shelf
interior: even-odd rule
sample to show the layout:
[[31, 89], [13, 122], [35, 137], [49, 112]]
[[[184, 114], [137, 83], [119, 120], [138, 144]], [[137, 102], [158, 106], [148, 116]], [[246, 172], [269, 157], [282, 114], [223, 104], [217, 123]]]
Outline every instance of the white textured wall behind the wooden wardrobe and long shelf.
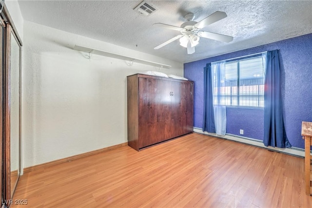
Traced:
[[75, 44], [172, 65], [183, 64], [24, 21], [24, 167], [127, 142], [126, 76], [159, 67], [75, 51]]

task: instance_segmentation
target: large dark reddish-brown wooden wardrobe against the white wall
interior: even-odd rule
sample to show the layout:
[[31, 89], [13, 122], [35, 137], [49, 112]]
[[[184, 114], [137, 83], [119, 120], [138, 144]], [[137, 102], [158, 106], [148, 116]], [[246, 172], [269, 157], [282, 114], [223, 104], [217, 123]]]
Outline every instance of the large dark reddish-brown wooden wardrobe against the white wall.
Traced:
[[128, 76], [128, 146], [139, 151], [193, 132], [193, 94], [192, 81]]

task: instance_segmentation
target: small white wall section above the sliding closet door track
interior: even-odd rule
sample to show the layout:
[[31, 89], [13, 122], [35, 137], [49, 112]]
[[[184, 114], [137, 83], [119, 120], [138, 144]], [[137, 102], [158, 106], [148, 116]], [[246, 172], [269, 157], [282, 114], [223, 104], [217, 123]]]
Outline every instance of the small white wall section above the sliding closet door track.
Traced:
[[20, 12], [20, 5], [17, 0], [5, 0], [6, 8], [13, 20], [13, 23], [19, 33], [21, 41], [23, 41], [23, 17]]

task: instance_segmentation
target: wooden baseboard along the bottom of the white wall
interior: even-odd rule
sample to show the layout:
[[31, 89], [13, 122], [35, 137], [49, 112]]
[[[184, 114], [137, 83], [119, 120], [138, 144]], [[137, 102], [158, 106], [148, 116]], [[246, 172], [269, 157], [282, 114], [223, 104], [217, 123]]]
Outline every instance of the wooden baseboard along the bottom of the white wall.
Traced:
[[35, 171], [35, 170], [39, 170], [41, 168], [55, 166], [55, 165], [59, 165], [59, 164], [62, 164], [62, 163], [67, 163], [69, 161], [77, 160], [79, 158], [87, 157], [87, 156], [90, 156], [90, 155], [95, 155], [95, 154], [98, 154], [98, 153], [101, 153], [101, 152], [109, 151], [109, 150], [116, 149], [116, 148], [119, 148], [119, 147], [122, 147], [122, 146], [127, 146], [127, 145], [128, 145], [128, 143], [125, 142], [125, 143], [121, 143], [121, 144], [118, 144], [118, 145], [107, 146], [107, 147], [104, 147], [104, 148], [101, 148], [101, 149], [97, 149], [97, 150], [93, 150], [93, 151], [90, 151], [90, 152], [85, 152], [85, 153], [81, 153], [81, 154], [78, 154], [78, 155], [73, 155], [73, 156], [70, 156], [70, 157], [62, 158], [62, 159], [59, 159], [59, 160], [54, 160], [54, 161], [51, 161], [51, 162], [42, 163], [42, 164], [35, 165], [35, 166], [25, 167], [23, 169], [23, 173], [25, 174], [25, 173], [29, 173], [29, 172], [32, 172], [32, 171]]

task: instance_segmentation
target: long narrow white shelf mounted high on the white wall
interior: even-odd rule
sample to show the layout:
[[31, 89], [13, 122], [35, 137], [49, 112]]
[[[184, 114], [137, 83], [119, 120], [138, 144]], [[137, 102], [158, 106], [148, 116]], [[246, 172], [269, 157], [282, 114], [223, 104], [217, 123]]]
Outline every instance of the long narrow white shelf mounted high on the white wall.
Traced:
[[129, 61], [129, 62], [137, 62], [137, 63], [143, 63], [143, 64], [152, 65], [152, 66], [159, 66], [159, 67], [162, 66], [163, 68], [170, 68], [171, 67], [171, 65], [167, 65], [167, 64], [163, 64], [163, 63], [151, 62], [151, 61], [147, 61], [147, 60], [143, 60], [143, 59], [138, 59], [135, 57], [123, 56], [120, 54], [111, 53], [108, 51], [98, 50], [98, 49], [94, 49], [94, 48], [87, 48], [87, 47], [80, 46], [80, 45], [75, 45], [75, 47], [73, 49], [77, 50], [77, 51], [82, 51], [85, 53], [97, 54], [100, 56], [111, 57], [114, 59], [121, 59], [121, 60]]

